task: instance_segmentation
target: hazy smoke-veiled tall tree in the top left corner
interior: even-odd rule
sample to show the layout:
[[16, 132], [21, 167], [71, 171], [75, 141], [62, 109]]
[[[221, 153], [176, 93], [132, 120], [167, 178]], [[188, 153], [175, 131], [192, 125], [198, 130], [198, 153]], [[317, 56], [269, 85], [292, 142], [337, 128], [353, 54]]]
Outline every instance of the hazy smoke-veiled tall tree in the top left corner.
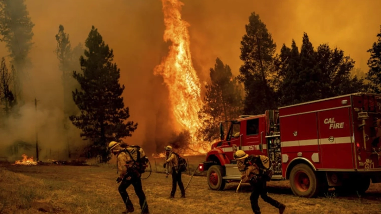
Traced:
[[[15, 84], [18, 86], [15, 96], [21, 96], [21, 75], [29, 65], [28, 53], [32, 47], [32, 28], [35, 25], [29, 17], [25, 0], [2, 0], [0, 1], [0, 41], [5, 41], [6, 46], [13, 58], [11, 63], [18, 71], [15, 75]], [[20, 97], [18, 98], [20, 100]]]

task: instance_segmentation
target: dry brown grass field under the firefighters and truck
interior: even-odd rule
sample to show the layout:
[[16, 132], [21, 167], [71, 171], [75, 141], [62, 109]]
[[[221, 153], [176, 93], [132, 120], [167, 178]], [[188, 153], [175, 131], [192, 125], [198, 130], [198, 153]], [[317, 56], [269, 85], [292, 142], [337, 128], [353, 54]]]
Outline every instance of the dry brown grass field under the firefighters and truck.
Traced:
[[[190, 172], [202, 157], [188, 157]], [[205, 176], [194, 176], [186, 189], [186, 198], [169, 199], [171, 178], [156, 173], [153, 158], [152, 174], [142, 181], [150, 213], [252, 213], [250, 185], [228, 183], [224, 191], [210, 190]], [[156, 159], [163, 171], [162, 158]], [[146, 172], [147, 173], [147, 172]], [[149, 173], [149, 172], [148, 172]], [[146, 174], [143, 174], [145, 177]], [[68, 166], [0, 165], [0, 213], [120, 213], [124, 210], [117, 191], [115, 164]], [[190, 176], [182, 176], [184, 185]], [[133, 187], [128, 187], [135, 212], [140, 212]], [[341, 197], [334, 191], [320, 198], [299, 198], [292, 194], [288, 181], [269, 182], [269, 195], [287, 205], [285, 213], [381, 213], [381, 185], [371, 184], [360, 197]], [[262, 213], [277, 209], [259, 199]]]

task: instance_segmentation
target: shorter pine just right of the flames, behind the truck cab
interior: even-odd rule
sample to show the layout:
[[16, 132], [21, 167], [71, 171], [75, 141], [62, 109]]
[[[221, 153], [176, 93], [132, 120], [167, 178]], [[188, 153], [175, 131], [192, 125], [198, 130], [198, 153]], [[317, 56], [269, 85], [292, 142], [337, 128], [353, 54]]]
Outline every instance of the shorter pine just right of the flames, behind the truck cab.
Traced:
[[210, 68], [210, 83], [206, 84], [206, 89], [205, 102], [199, 113], [204, 124], [199, 134], [211, 142], [219, 138], [220, 121], [233, 119], [241, 113], [242, 98], [231, 68], [220, 58], [216, 59], [214, 68]]

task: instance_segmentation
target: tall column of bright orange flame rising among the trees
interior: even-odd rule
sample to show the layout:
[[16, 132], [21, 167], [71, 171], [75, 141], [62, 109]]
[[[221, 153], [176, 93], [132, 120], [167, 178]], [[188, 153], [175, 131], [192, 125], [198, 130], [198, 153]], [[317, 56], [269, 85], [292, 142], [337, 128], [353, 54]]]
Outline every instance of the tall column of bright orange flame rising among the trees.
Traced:
[[198, 111], [202, 107], [200, 80], [192, 63], [189, 49], [189, 24], [181, 19], [179, 0], [161, 0], [164, 13], [164, 41], [170, 40], [168, 55], [154, 69], [169, 90], [173, 115], [180, 128], [188, 129], [193, 139], [201, 126]]

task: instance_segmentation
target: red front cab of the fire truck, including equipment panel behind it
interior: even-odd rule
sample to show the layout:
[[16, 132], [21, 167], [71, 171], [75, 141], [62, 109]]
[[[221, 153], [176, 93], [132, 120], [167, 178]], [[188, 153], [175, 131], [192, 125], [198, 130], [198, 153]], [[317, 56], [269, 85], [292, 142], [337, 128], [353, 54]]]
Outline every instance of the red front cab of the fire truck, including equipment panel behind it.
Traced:
[[[233, 157], [237, 150], [244, 150], [249, 155], [266, 156], [269, 156], [270, 150], [269, 158], [272, 158], [275, 172], [273, 178], [282, 179], [278, 116], [277, 110], [267, 110], [265, 114], [241, 115], [236, 120], [220, 123], [221, 139], [212, 144], [206, 161], [199, 165], [199, 170], [208, 170], [211, 189], [221, 190], [226, 182], [241, 180]], [[225, 128], [224, 123], [228, 124], [228, 128]], [[275, 148], [276, 145], [279, 148]]]

